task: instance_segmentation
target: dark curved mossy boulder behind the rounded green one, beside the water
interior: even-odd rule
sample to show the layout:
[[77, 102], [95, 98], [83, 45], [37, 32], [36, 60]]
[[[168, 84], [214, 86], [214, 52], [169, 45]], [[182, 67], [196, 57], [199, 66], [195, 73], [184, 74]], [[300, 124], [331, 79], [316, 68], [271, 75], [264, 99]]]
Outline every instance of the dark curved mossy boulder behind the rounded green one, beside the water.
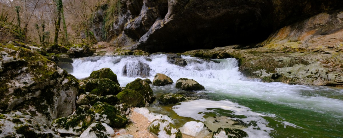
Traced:
[[152, 103], [156, 99], [150, 85], [142, 79], [135, 79], [128, 83], [125, 88], [139, 92], [147, 103]]

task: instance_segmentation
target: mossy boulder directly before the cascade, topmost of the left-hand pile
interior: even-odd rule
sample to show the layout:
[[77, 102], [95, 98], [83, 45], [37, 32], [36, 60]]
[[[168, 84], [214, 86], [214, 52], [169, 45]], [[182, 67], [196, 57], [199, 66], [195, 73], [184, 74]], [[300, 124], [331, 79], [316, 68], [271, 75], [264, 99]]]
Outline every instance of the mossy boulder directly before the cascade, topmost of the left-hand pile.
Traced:
[[116, 83], [119, 84], [117, 80], [117, 75], [113, 73], [113, 71], [109, 68], [102, 68], [97, 71], [93, 71], [90, 75], [92, 79], [102, 79], [102, 78], [108, 78]]

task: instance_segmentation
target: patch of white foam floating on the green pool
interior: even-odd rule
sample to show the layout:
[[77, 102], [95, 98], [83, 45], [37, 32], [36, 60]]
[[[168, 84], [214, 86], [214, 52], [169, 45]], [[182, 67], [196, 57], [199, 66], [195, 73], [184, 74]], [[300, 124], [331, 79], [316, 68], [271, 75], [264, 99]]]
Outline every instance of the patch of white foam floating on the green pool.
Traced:
[[[257, 126], [251, 126], [244, 129], [248, 133], [250, 138], [270, 138], [269, 132], [274, 130], [273, 128], [267, 127], [269, 123], [267, 120], [263, 119], [261, 116], [270, 116], [256, 112], [252, 112], [250, 108], [239, 105], [235, 102], [230, 101], [211, 101], [211, 100], [194, 100], [189, 102], [181, 102], [181, 105], [173, 106], [173, 110], [179, 115], [184, 117], [193, 118], [200, 121], [205, 121], [203, 116], [205, 112], [212, 112], [207, 110], [208, 108], [220, 108], [224, 110], [233, 111], [235, 115], [245, 115], [247, 118], [239, 119], [246, 124], [255, 122]], [[228, 118], [228, 119], [238, 119], [238, 118]]]

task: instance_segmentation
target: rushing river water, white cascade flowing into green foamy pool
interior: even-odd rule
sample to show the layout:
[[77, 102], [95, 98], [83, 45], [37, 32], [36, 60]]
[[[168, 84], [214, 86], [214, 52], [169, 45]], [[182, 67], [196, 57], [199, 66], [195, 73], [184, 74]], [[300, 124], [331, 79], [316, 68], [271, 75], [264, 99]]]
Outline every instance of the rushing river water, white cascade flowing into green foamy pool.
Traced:
[[[156, 73], [166, 74], [174, 82], [179, 78], [194, 79], [205, 87], [205, 91], [197, 92], [205, 99], [171, 106], [153, 104], [150, 109], [168, 115], [174, 113], [178, 119], [204, 121], [210, 128], [213, 125], [213, 129], [217, 127], [216, 122], [209, 121], [211, 114], [240, 120], [245, 124], [242, 129], [251, 138], [343, 137], [342, 89], [251, 81], [238, 71], [238, 61], [234, 58], [182, 58], [187, 61], [186, 67], [169, 64], [164, 54], [79, 58], [74, 59], [71, 74], [80, 79], [92, 71], [110, 68], [122, 87], [141, 77], [152, 80]], [[156, 96], [184, 92], [176, 89], [175, 84], [152, 88]]]

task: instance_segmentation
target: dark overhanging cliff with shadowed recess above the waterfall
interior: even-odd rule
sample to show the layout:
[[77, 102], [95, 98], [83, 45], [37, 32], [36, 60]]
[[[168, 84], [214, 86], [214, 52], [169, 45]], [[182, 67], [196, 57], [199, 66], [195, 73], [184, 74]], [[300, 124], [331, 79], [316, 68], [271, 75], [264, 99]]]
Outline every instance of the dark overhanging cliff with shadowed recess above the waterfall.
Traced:
[[[342, 6], [341, 0], [122, 0], [106, 36], [131, 38], [138, 41], [131, 49], [150, 53], [252, 44], [281, 27]], [[93, 19], [98, 41], [104, 37], [99, 30], [109, 22], [106, 9]]]

